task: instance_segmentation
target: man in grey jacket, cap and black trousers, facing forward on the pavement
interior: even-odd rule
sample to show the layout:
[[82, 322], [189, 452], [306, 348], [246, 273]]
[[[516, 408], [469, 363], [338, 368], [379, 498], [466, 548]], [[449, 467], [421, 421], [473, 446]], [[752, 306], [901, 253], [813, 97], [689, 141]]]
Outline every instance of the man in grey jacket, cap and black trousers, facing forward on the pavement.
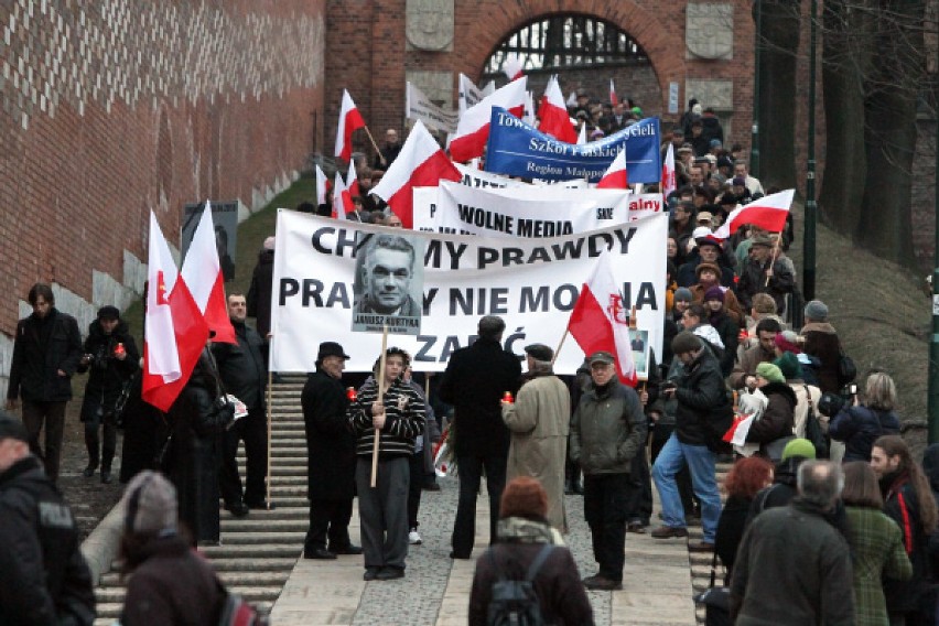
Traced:
[[612, 591], [623, 589], [629, 468], [643, 453], [646, 415], [636, 391], [616, 378], [612, 354], [594, 353], [587, 363], [591, 385], [571, 420], [571, 461], [584, 473], [584, 517], [600, 565], [584, 586]]

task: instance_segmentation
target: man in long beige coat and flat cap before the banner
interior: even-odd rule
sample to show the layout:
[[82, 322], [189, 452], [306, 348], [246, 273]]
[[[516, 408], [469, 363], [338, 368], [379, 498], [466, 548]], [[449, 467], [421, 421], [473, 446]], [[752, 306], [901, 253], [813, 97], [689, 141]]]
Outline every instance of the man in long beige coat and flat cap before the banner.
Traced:
[[571, 393], [554, 376], [554, 350], [544, 344], [525, 347], [528, 374], [515, 402], [503, 401], [503, 421], [511, 432], [506, 482], [538, 478], [548, 494], [548, 522], [566, 532], [564, 460], [571, 422]]

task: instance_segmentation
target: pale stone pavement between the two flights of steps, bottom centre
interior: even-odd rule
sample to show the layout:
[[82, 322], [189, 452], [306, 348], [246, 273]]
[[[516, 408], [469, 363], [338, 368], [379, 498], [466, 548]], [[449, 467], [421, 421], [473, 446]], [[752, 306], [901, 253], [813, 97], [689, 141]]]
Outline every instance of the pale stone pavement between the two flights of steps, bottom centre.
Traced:
[[[412, 546], [407, 575], [390, 582], [361, 580], [361, 557], [336, 561], [300, 559], [274, 604], [278, 625], [435, 625], [466, 624], [474, 561], [454, 561], [450, 533], [456, 511], [455, 478], [441, 481], [443, 490], [424, 492], [420, 533]], [[583, 519], [583, 498], [566, 496], [566, 540], [581, 576], [596, 572], [590, 532]], [[358, 536], [358, 512], [350, 532]], [[474, 558], [488, 543], [488, 500], [478, 498]], [[624, 591], [590, 592], [597, 625], [691, 625], [689, 557], [684, 540], [656, 541], [648, 535], [628, 535]]]

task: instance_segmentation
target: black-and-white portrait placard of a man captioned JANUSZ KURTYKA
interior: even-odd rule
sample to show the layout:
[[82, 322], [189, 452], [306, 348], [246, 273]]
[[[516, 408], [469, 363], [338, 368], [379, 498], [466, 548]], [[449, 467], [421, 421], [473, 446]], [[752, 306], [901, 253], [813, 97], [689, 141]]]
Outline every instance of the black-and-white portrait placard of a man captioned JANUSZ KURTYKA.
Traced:
[[418, 335], [424, 289], [423, 240], [391, 234], [358, 233], [352, 330]]

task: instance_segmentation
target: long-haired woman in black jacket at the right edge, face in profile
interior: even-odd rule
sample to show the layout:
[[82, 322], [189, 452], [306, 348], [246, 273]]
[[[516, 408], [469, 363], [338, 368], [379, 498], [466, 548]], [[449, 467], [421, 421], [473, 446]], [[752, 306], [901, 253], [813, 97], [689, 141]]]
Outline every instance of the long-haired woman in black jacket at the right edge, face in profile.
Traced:
[[884, 497], [884, 512], [899, 527], [904, 549], [913, 563], [910, 581], [887, 581], [884, 585], [891, 624], [935, 626], [928, 542], [939, 521], [939, 510], [929, 479], [913, 461], [909, 446], [899, 435], [882, 436], [874, 442], [871, 467]]

